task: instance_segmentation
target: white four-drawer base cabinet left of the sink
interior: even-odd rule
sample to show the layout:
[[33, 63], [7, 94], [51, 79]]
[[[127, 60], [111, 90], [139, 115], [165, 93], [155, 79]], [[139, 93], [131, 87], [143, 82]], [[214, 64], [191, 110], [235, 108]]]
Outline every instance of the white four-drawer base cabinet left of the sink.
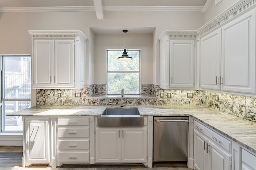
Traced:
[[89, 163], [89, 118], [58, 118], [57, 166]]

